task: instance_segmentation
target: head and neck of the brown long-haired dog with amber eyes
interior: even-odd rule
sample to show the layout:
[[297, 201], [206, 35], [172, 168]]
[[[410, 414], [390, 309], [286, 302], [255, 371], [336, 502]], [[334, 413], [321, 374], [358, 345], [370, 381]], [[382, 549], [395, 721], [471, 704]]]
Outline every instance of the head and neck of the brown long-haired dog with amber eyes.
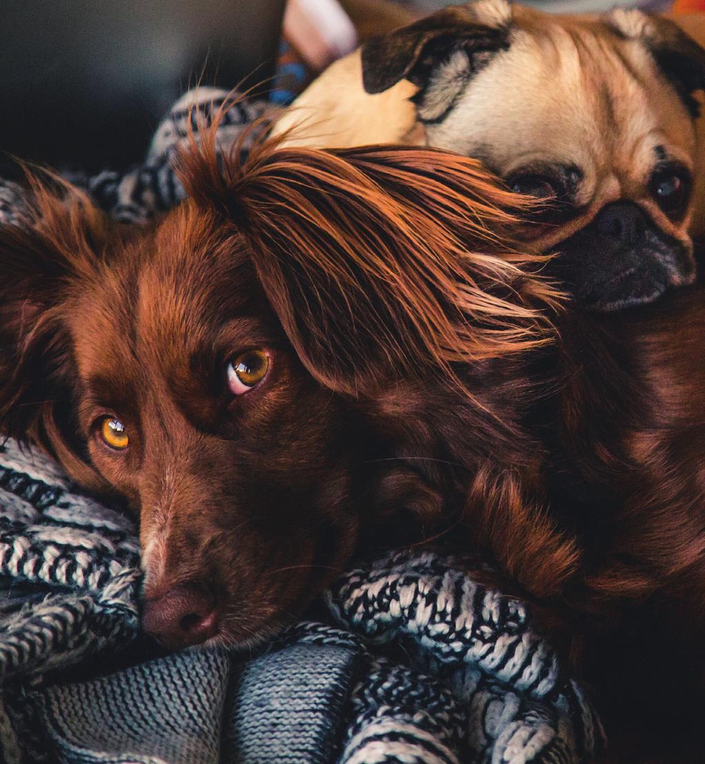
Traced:
[[557, 594], [576, 555], [521, 426], [555, 294], [503, 234], [521, 199], [429, 149], [186, 162], [154, 228], [37, 187], [0, 231], [2, 430], [139, 511], [146, 629], [263, 639], [399, 513]]

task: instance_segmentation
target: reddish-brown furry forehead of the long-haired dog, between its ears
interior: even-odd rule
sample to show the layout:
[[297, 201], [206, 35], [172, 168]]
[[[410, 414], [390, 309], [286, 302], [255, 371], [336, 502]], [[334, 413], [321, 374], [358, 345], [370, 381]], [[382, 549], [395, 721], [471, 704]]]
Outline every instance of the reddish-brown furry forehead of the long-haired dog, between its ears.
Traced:
[[223, 321], [244, 312], [254, 285], [240, 243], [207, 216], [167, 216], [99, 267], [68, 320], [82, 374], [185, 361]]

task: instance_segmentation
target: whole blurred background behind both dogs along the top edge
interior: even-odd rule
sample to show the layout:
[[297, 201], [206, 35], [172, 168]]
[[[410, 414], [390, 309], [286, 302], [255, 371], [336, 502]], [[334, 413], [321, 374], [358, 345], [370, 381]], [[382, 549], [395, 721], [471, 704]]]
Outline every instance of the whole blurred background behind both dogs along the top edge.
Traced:
[[[289, 103], [328, 63], [444, 0], [2, 0], [0, 175], [12, 155], [60, 170], [123, 170], [196, 82]], [[531, 0], [603, 11], [613, 0]], [[626, 0], [652, 11], [666, 0]], [[681, 10], [705, 0], [677, 0]]]

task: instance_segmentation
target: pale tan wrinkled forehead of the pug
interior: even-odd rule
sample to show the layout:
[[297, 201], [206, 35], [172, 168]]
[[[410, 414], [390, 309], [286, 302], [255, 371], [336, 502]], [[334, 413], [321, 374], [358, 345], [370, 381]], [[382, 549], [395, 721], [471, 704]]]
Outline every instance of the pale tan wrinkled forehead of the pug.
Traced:
[[503, 175], [541, 158], [642, 171], [656, 144], [693, 151], [687, 112], [641, 41], [593, 20], [541, 18], [540, 28], [520, 26], [447, 117], [426, 126], [429, 143], [480, 155]]

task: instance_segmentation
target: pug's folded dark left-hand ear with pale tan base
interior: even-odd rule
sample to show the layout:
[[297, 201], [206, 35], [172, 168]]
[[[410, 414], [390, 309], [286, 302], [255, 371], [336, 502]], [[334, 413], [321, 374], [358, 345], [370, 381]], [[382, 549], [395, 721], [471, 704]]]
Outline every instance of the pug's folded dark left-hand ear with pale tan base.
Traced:
[[[383, 92], [404, 78], [423, 89], [436, 67], [454, 53], [461, 53], [464, 73], [469, 76], [487, 63], [490, 54], [509, 46], [510, 24], [508, 2], [480, 0], [444, 8], [407, 27], [373, 37], [362, 46], [364, 89]], [[454, 68], [458, 70], [458, 66]], [[464, 84], [467, 77], [462, 79]]]

